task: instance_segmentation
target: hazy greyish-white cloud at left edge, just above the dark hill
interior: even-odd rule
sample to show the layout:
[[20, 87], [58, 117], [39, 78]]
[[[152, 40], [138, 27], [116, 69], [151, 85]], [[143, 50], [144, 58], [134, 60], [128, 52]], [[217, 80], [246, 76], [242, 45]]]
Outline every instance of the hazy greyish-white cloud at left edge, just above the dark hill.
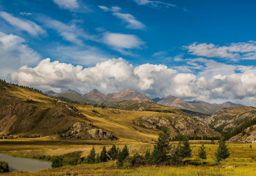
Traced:
[[29, 48], [25, 39], [0, 32], [0, 77], [7, 77], [12, 70], [37, 63], [40, 56]]

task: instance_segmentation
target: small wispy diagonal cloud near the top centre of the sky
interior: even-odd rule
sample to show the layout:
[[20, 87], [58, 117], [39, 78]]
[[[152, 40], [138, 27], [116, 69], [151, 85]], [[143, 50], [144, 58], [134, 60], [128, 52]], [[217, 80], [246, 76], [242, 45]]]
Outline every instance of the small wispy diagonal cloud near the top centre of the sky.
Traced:
[[120, 13], [119, 11], [121, 10], [121, 8], [119, 8], [118, 6], [113, 6], [111, 8], [107, 8], [106, 6], [98, 6], [98, 7], [104, 10], [105, 12], [108, 12], [108, 11], [113, 12], [112, 14], [118, 17], [118, 19], [121, 19], [122, 21], [125, 21], [125, 23], [128, 23], [126, 28], [144, 29], [146, 27], [143, 23], [138, 21], [132, 14]]

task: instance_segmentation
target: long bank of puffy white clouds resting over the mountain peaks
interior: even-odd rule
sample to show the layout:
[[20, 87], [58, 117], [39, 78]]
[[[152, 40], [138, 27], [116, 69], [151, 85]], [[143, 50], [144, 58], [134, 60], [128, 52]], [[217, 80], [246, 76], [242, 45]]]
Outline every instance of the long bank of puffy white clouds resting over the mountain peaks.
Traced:
[[72, 88], [86, 93], [97, 88], [107, 93], [130, 88], [144, 92], [149, 97], [174, 95], [187, 100], [243, 100], [255, 105], [255, 66], [236, 66], [234, 69], [240, 72], [210, 72], [211, 77], [204, 77], [179, 73], [165, 65], [146, 63], [134, 67], [122, 58], [102, 61], [89, 68], [44, 59], [35, 68], [24, 66], [12, 72], [11, 79], [45, 90]]

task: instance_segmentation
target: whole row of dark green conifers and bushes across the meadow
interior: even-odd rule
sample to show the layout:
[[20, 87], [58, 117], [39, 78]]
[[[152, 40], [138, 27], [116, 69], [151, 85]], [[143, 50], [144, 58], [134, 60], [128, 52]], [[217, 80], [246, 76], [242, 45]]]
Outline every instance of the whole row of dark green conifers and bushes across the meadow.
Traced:
[[[116, 145], [113, 145], [109, 150], [104, 146], [98, 154], [95, 153], [95, 148], [93, 146], [89, 155], [86, 157], [81, 157], [82, 152], [77, 151], [65, 155], [52, 157], [40, 156], [37, 158], [51, 161], [53, 168], [65, 165], [97, 164], [109, 160], [116, 160], [118, 168], [131, 168], [147, 165], [184, 165], [185, 163], [188, 163], [188, 159], [192, 157], [189, 137], [183, 137], [177, 146], [172, 146], [172, 144], [170, 144], [171, 140], [169, 129], [163, 127], [161, 133], [158, 134], [154, 150], [147, 150], [145, 155], [136, 153], [130, 156], [126, 145], [122, 150], [116, 147]], [[215, 153], [216, 161], [222, 164], [229, 155], [230, 153], [226, 146], [226, 142], [221, 137], [219, 139], [219, 147]], [[207, 159], [207, 153], [203, 144], [201, 144], [201, 147], [199, 148], [197, 157], [201, 159], [201, 164], [203, 164], [203, 159]]]

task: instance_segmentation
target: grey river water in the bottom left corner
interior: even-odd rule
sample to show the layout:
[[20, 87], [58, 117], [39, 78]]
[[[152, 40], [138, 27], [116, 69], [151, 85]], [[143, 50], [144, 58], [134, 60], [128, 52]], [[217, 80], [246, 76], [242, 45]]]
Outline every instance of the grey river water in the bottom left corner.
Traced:
[[3, 153], [0, 153], [0, 161], [8, 162], [10, 172], [15, 170], [39, 171], [46, 168], [52, 168], [51, 162], [23, 157], [12, 157]]

